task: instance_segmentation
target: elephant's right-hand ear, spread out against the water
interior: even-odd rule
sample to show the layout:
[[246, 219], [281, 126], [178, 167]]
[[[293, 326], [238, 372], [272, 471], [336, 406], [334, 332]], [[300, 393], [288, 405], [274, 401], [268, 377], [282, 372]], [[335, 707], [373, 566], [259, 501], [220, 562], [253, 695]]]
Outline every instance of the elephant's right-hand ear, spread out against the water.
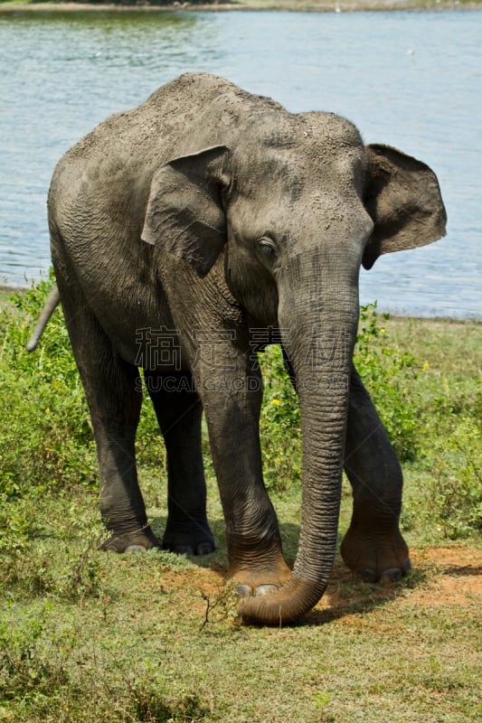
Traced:
[[364, 202], [374, 223], [364, 268], [391, 251], [425, 246], [445, 236], [447, 215], [437, 176], [391, 146], [367, 146], [370, 176]]

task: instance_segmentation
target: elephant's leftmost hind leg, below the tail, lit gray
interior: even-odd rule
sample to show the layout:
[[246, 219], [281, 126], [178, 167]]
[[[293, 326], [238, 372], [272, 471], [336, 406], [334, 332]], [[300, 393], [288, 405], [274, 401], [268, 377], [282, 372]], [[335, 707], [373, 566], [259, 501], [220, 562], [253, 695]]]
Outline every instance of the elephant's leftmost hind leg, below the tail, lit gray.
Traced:
[[135, 437], [142, 402], [137, 368], [118, 356], [80, 291], [72, 285], [66, 291], [63, 312], [90, 407], [99, 507], [110, 533], [100, 547], [113, 552], [158, 547], [137, 482]]

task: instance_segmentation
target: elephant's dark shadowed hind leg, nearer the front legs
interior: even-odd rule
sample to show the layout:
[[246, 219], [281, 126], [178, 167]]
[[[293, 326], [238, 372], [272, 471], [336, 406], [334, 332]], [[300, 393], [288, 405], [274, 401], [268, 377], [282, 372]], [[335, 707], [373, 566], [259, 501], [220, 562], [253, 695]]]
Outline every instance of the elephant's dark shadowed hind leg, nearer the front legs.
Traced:
[[[203, 407], [189, 372], [145, 371], [146, 386], [165, 439], [167, 523], [164, 549], [179, 554], [213, 552], [206, 515], [206, 483], [201, 445]], [[168, 380], [168, 384], [165, 381]]]

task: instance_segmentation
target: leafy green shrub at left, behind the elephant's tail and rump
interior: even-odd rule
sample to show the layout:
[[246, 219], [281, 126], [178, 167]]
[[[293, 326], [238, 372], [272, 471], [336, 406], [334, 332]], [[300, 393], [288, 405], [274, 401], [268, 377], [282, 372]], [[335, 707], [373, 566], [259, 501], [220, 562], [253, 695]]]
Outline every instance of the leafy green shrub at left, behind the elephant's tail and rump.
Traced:
[[3, 412], [0, 493], [8, 497], [52, 484], [92, 484], [95, 450], [79, 373], [61, 309], [36, 352], [25, 346], [53, 285], [52, 276], [12, 297], [2, 313]]

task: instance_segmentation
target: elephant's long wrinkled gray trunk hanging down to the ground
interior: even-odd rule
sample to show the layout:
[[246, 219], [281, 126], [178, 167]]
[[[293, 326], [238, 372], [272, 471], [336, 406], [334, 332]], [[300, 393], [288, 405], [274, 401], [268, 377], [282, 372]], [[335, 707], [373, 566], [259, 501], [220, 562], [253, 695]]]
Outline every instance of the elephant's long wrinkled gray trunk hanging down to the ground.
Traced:
[[[240, 615], [245, 622], [295, 621], [317, 604], [333, 570], [358, 322], [357, 285], [345, 285], [341, 302], [340, 296], [337, 300], [326, 294], [311, 296], [311, 303], [305, 303], [298, 315], [293, 304], [294, 312], [283, 315], [289, 304], [283, 304], [281, 297], [279, 305], [280, 321], [286, 320], [280, 324], [283, 343], [296, 374], [301, 408], [303, 493], [298, 556], [291, 577], [276, 592], [242, 601]], [[310, 314], [307, 308], [312, 309]]]

